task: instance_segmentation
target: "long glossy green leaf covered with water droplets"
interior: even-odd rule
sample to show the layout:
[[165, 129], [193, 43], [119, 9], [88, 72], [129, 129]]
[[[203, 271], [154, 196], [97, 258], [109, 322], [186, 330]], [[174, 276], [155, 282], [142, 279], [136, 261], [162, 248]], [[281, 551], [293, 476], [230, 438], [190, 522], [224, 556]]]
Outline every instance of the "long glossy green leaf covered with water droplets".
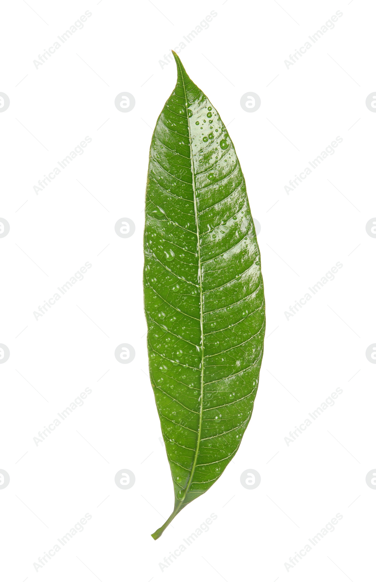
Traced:
[[237, 452], [265, 331], [260, 251], [237, 154], [174, 57], [177, 84], [150, 148], [144, 233], [149, 372], [175, 494], [155, 540]]

